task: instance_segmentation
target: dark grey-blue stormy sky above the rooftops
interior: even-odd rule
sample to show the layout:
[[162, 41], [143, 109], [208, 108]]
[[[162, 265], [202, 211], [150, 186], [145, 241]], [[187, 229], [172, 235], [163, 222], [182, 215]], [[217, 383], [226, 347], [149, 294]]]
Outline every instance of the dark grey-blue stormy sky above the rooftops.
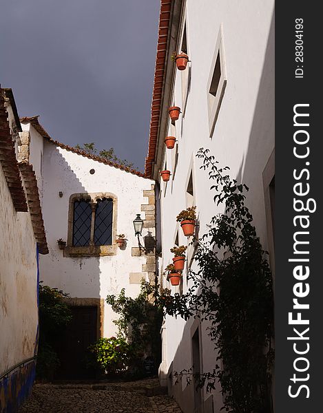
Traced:
[[1, 1], [0, 83], [52, 138], [143, 169], [159, 0]]

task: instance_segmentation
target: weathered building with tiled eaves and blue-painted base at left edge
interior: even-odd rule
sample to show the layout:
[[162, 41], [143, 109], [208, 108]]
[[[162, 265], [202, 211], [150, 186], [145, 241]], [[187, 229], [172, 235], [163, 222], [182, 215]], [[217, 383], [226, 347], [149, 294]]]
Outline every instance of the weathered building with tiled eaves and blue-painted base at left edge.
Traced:
[[21, 149], [12, 90], [0, 89], [1, 412], [17, 411], [34, 382], [39, 253], [48, 253], [37, 177]]

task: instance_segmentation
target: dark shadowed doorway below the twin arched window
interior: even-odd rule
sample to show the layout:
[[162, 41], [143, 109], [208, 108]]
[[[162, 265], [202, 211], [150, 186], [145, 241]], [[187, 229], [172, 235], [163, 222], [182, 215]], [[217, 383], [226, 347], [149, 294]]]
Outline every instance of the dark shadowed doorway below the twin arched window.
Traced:
[[56, 379], [85, 380], [94, 379], [94, 369], [87, 368], [87, 348], [98, 338], [96, 306], [73, 306], [72, 321], [57, 341], [57, 353], [61, 366], [56, 372]]

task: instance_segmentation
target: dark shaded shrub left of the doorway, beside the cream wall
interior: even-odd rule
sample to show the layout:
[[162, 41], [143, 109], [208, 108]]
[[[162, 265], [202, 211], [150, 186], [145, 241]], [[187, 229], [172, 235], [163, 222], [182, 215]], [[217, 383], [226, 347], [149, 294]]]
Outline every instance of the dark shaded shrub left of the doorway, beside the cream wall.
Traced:
[[68, 294], [57, 288], [39, 283], [39, 347], [37, 354], [37, 379], [50, 380], [60, 366], [54, 342], [61, 330], [72, 320], [67, 304]]

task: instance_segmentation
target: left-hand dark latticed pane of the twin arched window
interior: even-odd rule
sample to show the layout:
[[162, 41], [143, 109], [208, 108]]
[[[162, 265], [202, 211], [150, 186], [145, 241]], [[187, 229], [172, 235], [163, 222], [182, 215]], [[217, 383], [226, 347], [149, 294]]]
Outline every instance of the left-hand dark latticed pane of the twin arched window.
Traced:
[[73, 246], [90, 245], [91, 215], [90, 201], [74, 202]]

